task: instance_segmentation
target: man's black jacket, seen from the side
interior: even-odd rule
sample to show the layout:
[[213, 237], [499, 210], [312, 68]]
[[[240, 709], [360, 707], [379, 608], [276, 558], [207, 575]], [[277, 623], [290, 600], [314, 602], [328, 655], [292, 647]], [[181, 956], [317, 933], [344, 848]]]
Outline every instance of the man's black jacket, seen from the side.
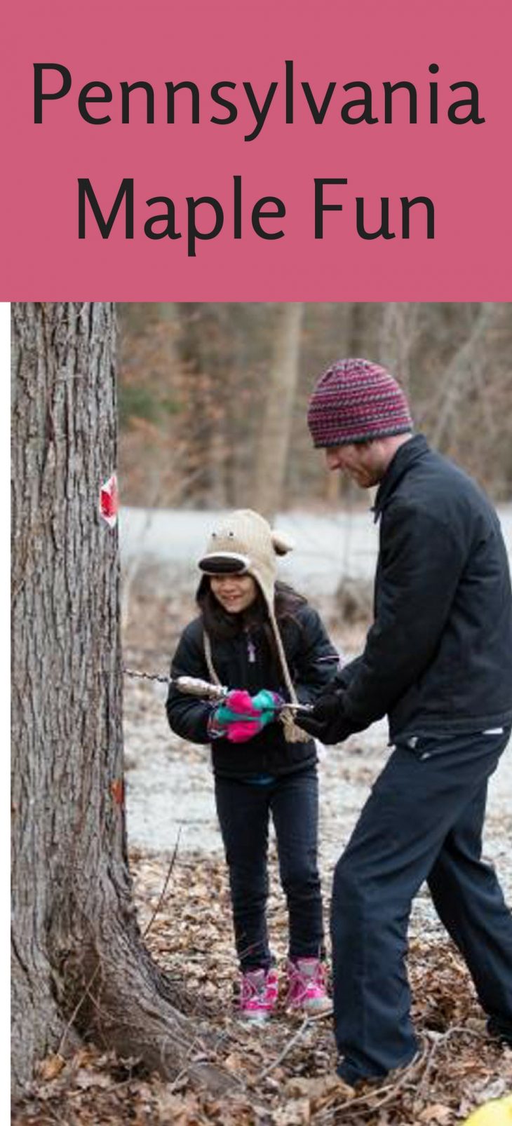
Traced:
[[375, 622], [340, 673], [354, 730], [386, 713], [392, 741], [509, 724], [511, 581], [487, 498], [417, 435], [393, 458], [375, 518]]

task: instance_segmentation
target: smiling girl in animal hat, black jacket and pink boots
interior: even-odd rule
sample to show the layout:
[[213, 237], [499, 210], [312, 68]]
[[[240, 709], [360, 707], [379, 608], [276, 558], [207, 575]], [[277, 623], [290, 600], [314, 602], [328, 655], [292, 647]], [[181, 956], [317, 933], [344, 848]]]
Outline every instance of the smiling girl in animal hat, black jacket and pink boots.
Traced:
[[267, 933], [268, 831], [272, 817], [287, 899], [287, 1006], [330, 1011], [325, 989], [317, 870], [316, 747], [282, 709], [311, 703], [338, 667], [318, 615], [276, 582], [289, 551], [250, 509], [224, 518], [199, 561], [199, 617], [185, 629], [172, 677], [206, 678], [232, 689], [221, 704], [170, 687], [167, 714], [177, 734], [212, 743], [215, 799], [226, 861], [245, 1018], [264, 1020], [278, 998]]

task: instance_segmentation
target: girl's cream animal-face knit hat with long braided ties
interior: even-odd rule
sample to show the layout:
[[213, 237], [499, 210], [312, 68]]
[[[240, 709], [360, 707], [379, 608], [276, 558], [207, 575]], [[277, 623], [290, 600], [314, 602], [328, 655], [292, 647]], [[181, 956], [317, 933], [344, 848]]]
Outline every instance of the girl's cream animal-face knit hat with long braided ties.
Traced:
[[[297, 704], [273, 609], [277, 557], [286, 555], [293, 546], [291, 540], [280, 533], [273, 531], [259, 512], [253, 512], [250, 508], [237, 509], [227, 517], [223, 517], [217, 527], [214, 528], [206, 552], [198, 565], [205, 574], [250, 574], [255, 580], [267, 605], [289, 700], [291, 704]], [[209, 674], [214, 682], [218, 683], [212, 660], [212, 646], [206, 633], [205, 654]], [[309, 738], [295, 727], [295, 724], [290, 722], [289, 713], [288, 716], [284, 714], [284, 721], [285, 734], [288, 740], [299, 739], [303, 741]]]

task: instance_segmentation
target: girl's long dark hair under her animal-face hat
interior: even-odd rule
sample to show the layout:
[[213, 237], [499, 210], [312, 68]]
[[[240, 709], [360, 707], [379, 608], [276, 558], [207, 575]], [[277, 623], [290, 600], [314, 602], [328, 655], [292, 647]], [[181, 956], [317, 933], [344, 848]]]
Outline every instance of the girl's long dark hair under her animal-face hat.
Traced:
[[[270, 624], [267, 602], [257, 580], [257, 597], [251, 606], [242, 614], [228, 614], [221, 606], [212, 590], [209, 575], [204, 574], [196, 592], [196, 601], [199, 607], [206, 633], [212, 641], [230, 641], [236, 637], [243, 629], [261, 628], [267, 640], [272, 661], [276, 669], [280, 671], [280, 660], [277, 651], [273, 629]], [[275, 584], [273, 611], [277, 624], [281, 631], [286, 620], [296, 622], [296, 611], [299, 606], [305, 606], [307, 599], [288, 587], [286, 582], [277, 581]]]

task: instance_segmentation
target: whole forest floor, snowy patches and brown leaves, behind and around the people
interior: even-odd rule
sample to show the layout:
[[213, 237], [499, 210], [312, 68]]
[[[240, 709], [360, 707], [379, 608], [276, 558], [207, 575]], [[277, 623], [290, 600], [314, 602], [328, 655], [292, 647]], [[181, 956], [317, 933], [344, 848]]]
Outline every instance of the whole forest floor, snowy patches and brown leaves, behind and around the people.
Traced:
[[[332, 597], [318, 596], [315, 602], [333, 640], [347, 653], [356, 652], [362, 625], [347, 627], [340, 636]], [[178, 579], [162, 587], [156, 566], [134, 577], [125, 618], [126, 664], [165, 673], [191, 613], [190, 591]], [[300, 1020], [280, 1010], [262, 1028], [248, 1028], [236, 1019], [228, 887], [208, 751], [169, 731], [164, 695], [155, 681], [126, 677], [127, 828], [135, 897], [153, 956], [180, 990], [186, 988], [198, 1029], [206, 1020], [214, 1030], [217, 1060], [233, 1080], [233, 1092], [219, 1098], [195, 1091], [186, 1071], [174, 1083], [164, 1083], [143, 1074], [136, 1060], [122, 1061], [86, 1046], [70, 1060], [44, 1061], [30, 1096], [15, 1112], [16, 1126], [455, 1126], [474, 1107], [510, 1092], [512, 1051], [487, 1036], [468, 974], [425, 890], [414, 905], [408, 950], [421, 1054], [398, 1082], [383, 1082], [347, 1101], [335, 1079], [329, 1018]], [[326, 911], [333, 865], [387, 753], [385, 725], [376, 724], [322, 758]], [[509, 902], [511, 784], [509, 748], [489, 787], [485, 838], [485, 857], [496, 865]], [[282, 965], [286, 912], [273, 844], [269, 926]]]

